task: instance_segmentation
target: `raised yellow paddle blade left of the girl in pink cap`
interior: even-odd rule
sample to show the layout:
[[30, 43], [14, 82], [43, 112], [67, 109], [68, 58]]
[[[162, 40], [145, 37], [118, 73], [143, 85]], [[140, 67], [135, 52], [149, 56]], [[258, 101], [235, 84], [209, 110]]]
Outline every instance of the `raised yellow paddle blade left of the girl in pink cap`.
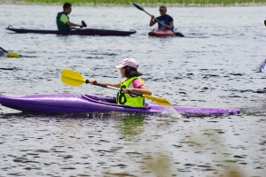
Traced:
[[74, 87], [82, 85], [86, 80], [82, 77], [82, 74], [72, 71], [70, 69], [63, 69], [61, 73], [61, 81], [67, 85]]

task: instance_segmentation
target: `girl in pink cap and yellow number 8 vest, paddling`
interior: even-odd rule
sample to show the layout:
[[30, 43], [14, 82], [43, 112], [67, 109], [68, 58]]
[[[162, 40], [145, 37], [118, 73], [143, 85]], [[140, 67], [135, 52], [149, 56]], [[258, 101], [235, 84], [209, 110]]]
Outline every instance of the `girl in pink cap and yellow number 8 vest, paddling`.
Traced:
[[[152, 91], [145, 87], [144, 81], [142, 81], [138, 76], [142, 73], [137, 72], [137, 61], [133, 58], [125, 58], [121, 65], [117, 65], [116, 68], [121, 71], [121, 76], [125, 77], [119, 83], [108, 83], [99, 82], [108, 86], [115, 88], [120, 88], [116, 96], [116, 103], [130, 106], [145, 106], [145, 97], [135, 96], [129, 94], [129, 91], [134, 91], [137, 93], [152, 95]], [[96, 83], [96, 80], [90, 80], [90, 84]]]

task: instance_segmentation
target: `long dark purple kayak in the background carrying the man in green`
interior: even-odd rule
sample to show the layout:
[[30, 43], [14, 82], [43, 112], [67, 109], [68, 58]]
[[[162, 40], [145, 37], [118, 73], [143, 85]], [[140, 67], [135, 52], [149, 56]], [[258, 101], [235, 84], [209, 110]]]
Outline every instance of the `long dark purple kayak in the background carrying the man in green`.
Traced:
[[54, 35], [132, 35], [136, 31], [130, 29], [129, 31], [118, 31], [118, 30], [109, 30], [109, 29], [93, 29], [86, 28], [80, 30], [71, 30], [71, 31], [59, 31], [59, 30], [43, 30], [43, 29], [24, 29], [24, 28], [5, 28], [16, 33], [35, 33], [35, 34], [54, 34]]

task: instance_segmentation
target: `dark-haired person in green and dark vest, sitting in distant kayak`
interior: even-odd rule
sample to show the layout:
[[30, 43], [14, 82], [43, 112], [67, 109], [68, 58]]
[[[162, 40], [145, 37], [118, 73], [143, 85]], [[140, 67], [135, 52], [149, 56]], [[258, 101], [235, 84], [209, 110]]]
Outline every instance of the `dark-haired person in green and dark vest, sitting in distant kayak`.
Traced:
[[74, 23], [71, 23], [69, 21], [69, 17], [67, 14], [69, 14], [72, 10], [71, 4], [65, 3], [63, 5], [63, 12], [59, 12], [57, 16], [57, 25], [59, 30], [71, 30], [71, 29], [79, 29], [79, 28], [74, 28], [74, 27], [83, 27], [82, 25], [77, 25]]

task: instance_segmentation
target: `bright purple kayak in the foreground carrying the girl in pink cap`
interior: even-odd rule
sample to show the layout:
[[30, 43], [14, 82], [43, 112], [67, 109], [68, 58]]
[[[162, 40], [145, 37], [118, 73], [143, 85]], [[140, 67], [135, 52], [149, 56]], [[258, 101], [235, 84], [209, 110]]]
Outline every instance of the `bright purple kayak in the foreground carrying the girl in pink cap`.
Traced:
[[[115, 104], [111, 97], [79, 94], [37, 94], [31, 96], [0, 95], [0, 104], [21, 112], [81, 113], [81, 112], [129, 112], [161, 113], [164, 106], [146, 104], [145, 107]], [[195, 116], [234, 115], [239, 109], [232, 108], [192, 108], [173, 106], [176, 112]]]

